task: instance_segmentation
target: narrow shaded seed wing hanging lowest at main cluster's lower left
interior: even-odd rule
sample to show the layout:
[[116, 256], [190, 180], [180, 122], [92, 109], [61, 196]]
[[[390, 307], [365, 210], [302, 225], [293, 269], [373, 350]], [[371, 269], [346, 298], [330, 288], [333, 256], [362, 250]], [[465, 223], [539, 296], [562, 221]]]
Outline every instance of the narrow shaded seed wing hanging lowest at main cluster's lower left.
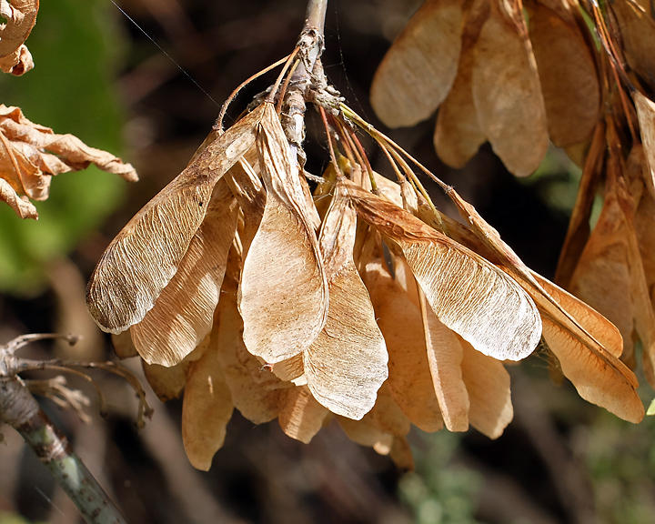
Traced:
[[212, 333], [202, 358], [188, 370], [182, 403], [182, 439], [186, 456], [196, 469], [208, 471], [214, 454], [223, 446], [232, 398], [221, 369]]

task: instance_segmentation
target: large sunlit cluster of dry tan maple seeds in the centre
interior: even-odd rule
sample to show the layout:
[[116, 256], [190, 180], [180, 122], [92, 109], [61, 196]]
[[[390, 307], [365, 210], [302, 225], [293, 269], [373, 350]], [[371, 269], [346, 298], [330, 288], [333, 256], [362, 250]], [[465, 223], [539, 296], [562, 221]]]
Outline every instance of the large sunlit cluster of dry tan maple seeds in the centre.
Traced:
[[[542, 333], [583, 398], [642, 418], [610, 322], [532, 273], [447, 186], [467, 225], [441, 215], [407, 154], [347, 106], [324, 122], [332, 162], [314, 196], [264, 102], [206, 140], [89, 282], [119, 355], [142, 358], [160, 398], [184, 389], [196, 468], [234, 408], [304, 442], [336, 418], [404, 467], [411, 424], [497, 438], [512, 418], [502, 361]], [[370, 169], [350, 125], [388, 153], [398, 184]]]

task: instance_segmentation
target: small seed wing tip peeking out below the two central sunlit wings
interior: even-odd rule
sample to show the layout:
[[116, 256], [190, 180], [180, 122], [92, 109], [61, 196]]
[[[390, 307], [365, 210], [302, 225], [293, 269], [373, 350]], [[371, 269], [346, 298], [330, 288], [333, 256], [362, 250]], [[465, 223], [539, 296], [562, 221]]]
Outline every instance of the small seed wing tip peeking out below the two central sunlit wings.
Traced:
[[285, 389], [277, 421], [287, 437], [308, 444], [323, 427], [328, 413], [307, 386], [299, 386]]

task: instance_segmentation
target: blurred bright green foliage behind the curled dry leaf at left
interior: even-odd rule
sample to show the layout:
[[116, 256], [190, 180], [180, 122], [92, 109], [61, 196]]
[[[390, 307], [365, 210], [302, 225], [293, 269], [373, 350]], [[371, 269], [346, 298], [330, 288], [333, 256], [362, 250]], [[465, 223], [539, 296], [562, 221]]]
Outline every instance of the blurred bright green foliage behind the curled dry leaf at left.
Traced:
[[[115, 12], [106, 0], [43, 2], [29, 39], [36, 67], [24, 77], [0, 76], [5, 106], [120, 155], [126, 107], [113, 84], [125, 47]], [[18, 221], [0, 207], [0, 289], [42, 290], [44, 265], [98, 227], [119, 205], [124, 185], [92, 166], [53, 180], [50, 198], [37, 204], [37, 222]]]

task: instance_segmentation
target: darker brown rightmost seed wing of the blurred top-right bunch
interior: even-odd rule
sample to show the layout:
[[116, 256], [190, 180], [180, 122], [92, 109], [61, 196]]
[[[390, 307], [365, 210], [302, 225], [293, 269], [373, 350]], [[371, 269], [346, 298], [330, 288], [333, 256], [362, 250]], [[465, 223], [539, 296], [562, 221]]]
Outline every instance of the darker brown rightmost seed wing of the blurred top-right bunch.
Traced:
[[550, 140], [572, 146], [591, 136], [600, 116], [600, 85], [591, 49], [572, 15], [529, 3], [529, 37], [541, 81]]

